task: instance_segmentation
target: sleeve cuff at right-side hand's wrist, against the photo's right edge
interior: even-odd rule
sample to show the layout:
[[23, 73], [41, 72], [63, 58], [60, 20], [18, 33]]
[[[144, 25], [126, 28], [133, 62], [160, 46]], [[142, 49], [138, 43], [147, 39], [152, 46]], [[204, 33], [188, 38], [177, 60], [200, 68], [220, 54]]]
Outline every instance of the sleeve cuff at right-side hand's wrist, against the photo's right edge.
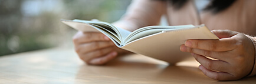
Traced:
[[250, 38], [252, 43], [254, 44], [254, 51], [255, 51], [255, 53], [254, 53], [254, 56], [255, 56], [254, 57], [254, 66], [251, 70], [251, 73], [248, 75], [248, 76], [254, 76], [254, 75], [256, 75], [256, 37], [252, 37], [252, 36], [249, 36], [249, 35], [246, 35], [246, 36], [248, 38]]

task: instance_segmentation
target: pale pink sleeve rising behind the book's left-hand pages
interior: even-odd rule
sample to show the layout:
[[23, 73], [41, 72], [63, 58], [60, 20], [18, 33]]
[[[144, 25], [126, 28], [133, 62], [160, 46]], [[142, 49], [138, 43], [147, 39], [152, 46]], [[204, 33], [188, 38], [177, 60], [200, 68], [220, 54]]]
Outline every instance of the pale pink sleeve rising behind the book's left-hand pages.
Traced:
[[163, 0], [133, 0], [126, 14], [113, 24], [128, 31], [159, 25], [161, 16], [166, 12], [166, 4]]

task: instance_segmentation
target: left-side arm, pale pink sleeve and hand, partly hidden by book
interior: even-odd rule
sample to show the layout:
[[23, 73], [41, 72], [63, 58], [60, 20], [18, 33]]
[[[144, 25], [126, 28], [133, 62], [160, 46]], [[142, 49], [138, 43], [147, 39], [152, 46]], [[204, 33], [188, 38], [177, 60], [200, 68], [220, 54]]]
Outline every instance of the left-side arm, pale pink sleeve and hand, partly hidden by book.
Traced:
[[[133, 31], [147, 25], [157, 25], [165, 11], [165, 2], [158, 0], [134, 0], [127, 13], [114, 23], [119, 28]], [[107, 36], [96, 32], [77, 32], [73, 37], [80, 59], [87, 64], [102, 65], [117, 55], [131, 53], [117, 48]]]

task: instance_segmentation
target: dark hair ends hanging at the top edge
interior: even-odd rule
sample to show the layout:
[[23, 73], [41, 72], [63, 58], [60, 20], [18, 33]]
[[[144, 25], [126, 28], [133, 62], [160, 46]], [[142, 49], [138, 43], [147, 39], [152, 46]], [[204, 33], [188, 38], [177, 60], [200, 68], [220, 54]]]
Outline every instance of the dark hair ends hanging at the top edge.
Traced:
[[[176, 10], [179, 10], [183, 7], [183, 5], [188, 2], [188, 0], [167, 0], [169, 1]], [[212, 11], [214, 14], [224, 11], [229, 6], [231, 6], [235, 1], [237, 0], [212, 0], [206, 8], [204, 8], [204, 11]]]

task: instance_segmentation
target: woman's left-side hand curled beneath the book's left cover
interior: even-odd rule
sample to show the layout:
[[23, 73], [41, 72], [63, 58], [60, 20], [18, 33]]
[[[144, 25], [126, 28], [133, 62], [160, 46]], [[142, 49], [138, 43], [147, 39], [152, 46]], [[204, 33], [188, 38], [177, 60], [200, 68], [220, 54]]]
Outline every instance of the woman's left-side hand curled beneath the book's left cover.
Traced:
[[97, 32], [77, 32], [73, 42], [80, 59], [92, 65], [102, 65], [114, 59], [117, 53], [127, 52], [117, 48], [107, 36]]

